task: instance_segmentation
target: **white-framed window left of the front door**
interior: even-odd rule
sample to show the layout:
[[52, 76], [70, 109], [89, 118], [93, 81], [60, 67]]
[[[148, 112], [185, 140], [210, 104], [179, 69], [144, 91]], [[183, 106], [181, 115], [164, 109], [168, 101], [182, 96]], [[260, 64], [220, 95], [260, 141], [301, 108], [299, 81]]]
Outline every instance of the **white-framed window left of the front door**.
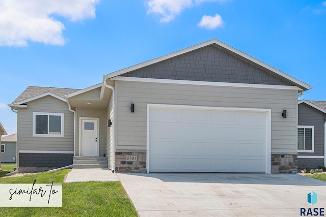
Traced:
[[33, 136], [63, 137], [64, 114], [33, 112]]

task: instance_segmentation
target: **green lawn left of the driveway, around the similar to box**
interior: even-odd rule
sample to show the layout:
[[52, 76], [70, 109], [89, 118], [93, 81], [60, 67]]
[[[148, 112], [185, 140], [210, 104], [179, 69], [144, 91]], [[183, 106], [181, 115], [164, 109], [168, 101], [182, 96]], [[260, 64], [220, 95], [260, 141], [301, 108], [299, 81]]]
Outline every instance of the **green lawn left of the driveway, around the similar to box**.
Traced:
[[[70, 170], [0, 178], [0, 183], [63, 183]], [[63, 183], [62, 207], [0, 207], [1, 216], [138, 216], [120, 182]]]

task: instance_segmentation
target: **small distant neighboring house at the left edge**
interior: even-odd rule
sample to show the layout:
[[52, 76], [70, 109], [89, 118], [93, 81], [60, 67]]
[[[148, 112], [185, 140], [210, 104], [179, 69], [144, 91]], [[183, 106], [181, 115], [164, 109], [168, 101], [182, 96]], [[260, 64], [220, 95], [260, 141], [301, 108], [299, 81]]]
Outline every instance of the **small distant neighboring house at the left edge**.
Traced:
[[15, 163], [17, 154], [17, 134], [11, 134], [1, 139], [1, 163]]

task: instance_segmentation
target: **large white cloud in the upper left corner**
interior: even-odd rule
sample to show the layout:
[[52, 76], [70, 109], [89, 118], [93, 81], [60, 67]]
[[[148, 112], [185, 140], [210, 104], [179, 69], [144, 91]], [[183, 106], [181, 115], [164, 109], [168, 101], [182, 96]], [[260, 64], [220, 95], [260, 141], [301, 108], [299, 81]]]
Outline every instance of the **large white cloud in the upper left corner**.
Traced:
[[64, 45], [63, 23], [95, 17], [99, 0], [2, 0], [0, 1], [0, 46], [27, 46], [28, 41]]

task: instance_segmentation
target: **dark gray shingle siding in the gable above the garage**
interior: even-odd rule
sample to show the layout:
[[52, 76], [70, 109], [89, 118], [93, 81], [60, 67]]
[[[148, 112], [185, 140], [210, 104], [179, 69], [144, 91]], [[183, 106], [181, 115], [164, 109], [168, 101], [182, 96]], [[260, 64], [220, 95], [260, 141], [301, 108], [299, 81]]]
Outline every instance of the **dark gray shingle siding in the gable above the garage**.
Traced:
[[214, 46], [206, 46], [121, 76], [292, 85]]

